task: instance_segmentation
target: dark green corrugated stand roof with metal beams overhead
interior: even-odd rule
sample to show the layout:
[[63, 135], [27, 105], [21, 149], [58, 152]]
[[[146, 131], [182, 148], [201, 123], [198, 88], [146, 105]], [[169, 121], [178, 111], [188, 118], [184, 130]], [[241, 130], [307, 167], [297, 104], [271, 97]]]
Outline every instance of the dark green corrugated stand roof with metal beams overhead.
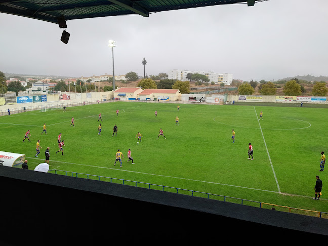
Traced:
[[[59, 23], [57, 18], [75, 20], [134, 15], [226, 4], [248, 4], [268, 0], [0, 0], [0, 12]], [[62, 27], [63, 28], [63, 27]]]

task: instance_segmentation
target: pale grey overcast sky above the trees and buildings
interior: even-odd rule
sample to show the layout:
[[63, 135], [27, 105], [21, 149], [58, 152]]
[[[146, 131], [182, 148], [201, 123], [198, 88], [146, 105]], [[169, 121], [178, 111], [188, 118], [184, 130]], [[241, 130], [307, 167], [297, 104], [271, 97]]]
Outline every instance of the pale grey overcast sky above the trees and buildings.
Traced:
[[172, 69], [232, 73], [233, 78], [328, 76], [328, 1], [269, 0], [166, 11], [149, 17], [67, 21], [67, 45], [57, 24], [0, 13], [0, 71], [92, 76]]

